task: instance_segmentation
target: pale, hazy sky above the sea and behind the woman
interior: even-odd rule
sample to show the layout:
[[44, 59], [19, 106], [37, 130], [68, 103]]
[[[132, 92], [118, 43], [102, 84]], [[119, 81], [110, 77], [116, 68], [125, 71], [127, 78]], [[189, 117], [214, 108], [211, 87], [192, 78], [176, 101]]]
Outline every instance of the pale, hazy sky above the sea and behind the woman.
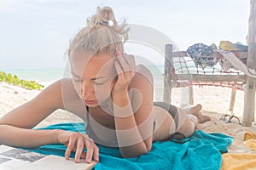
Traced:
[[105, 5], [117, 20], [154, 28], [181, 50], [198, 42], [246, 44], [249, 0], [0, 0], [0, 71], [63, 67], [69, 41]]

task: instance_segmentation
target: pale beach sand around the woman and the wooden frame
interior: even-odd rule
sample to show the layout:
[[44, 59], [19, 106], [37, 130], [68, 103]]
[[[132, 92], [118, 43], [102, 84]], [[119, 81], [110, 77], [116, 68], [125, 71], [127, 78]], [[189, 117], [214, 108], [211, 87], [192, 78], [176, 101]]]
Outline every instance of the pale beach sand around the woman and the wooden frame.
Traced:
[[[174, 88], [172, 92], [172, 104], [177, 106], [183, 104], [183, 100], [186, 99], [187, 95], [182, 99], [179, 96], [181, 96], [184, 91], [182, 90], [181, 92], [180, 88]], [[39, 93], [40, 91], [38, 90], [26, 90], [0, 82], [0, 117], [32, 99]], [[206, 132], [225, 133], [233, 136], [235, 140], [229, 148], [231, 152], [250, 152], [251, 150], [248, 150], [247, 147], [242, 144], [243, 134], [247, 131], [256, 133], [256, 127], [241, 127], [241, 125], [236, 123], [219, 121], [220, 116], [229, 113], [230, 95], [230, 88], [194, 87], [195, 104], [201, 103], [201, 105], [203, 105], [203, 113], [212, 118], [210, 122], [199, 124], [198, 128]], [[244, 92], [238, 90], [236, 92], [234, 114], [240, 118], [243, 113], [243, 99]], [[81, 120], [79, 117], [73, 116], [73, 114], [67, 111], [58, 110], [41, 122], [38, 127], [59, 122], [81, 122]], [[254, 123], [255, 122], [253, 122], [253, 125]]]

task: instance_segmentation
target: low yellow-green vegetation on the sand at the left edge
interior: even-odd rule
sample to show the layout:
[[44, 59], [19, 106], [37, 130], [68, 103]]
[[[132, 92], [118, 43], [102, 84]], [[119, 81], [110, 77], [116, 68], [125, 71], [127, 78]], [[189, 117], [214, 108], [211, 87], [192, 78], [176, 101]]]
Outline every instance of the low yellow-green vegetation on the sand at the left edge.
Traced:
[[20, 80], [16, 75], [13, 76], [10, 73], [7, 74], [3, 71], [0, 71], [0, 82], [8, 82], [9, 84], [13, 84], [15, 86], [20, 86], [22, 88], [30, 90], [44, 88], [44, 85], [38, 84], [38, 82]]

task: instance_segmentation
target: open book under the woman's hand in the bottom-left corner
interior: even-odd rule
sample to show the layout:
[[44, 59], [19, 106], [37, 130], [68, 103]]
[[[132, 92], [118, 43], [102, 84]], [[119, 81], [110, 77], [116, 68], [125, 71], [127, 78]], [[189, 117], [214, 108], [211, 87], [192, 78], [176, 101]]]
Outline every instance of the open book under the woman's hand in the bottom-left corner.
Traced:
[[20, 150], [13, 147], [0, 145], [0, 169], [9, 170], [86, 170], [95, 167], [96, 161], [86, 163], [81, 160], [75, 163], [73, 159], [65, 160], [61, 156], [45, 156], [29, 150]]

